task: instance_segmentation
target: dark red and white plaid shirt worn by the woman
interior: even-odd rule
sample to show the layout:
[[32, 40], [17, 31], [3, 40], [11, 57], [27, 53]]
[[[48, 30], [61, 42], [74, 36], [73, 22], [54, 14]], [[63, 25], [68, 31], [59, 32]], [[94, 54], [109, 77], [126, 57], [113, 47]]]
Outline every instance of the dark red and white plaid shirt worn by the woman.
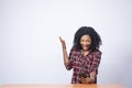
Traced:
[[69, 62], [66, 68], [70, 70], [73, 68], [72, 84], [79, 84], [79, 74], [85, 73], [87, 77], [91, 72], [98, 74], [98, 67], [101, 59], [101, 52], [95, 51], [89, 52], [88, 55], [84, 56], [81, 51], [70, 51]]

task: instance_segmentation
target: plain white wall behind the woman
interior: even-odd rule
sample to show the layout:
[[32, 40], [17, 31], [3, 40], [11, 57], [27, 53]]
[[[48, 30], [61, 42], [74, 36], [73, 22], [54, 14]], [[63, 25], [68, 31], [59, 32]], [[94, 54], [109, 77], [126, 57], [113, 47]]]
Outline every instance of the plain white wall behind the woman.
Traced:
[[131, 0], [0, 0], [0, 84], [69, 84], [62, 46], [78, 28], [102, 38], [99, 84], [132, 87]]

